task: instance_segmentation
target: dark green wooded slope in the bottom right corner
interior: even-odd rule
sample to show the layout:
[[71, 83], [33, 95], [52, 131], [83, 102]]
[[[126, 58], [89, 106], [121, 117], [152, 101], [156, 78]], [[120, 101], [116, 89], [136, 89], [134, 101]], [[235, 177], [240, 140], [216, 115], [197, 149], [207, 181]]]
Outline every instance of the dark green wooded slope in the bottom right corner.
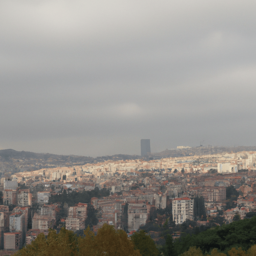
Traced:
[[195, 246], [205, 252], [217, 248], [223, 253], [232, 247], [247, 250], [256, 243], [256, 217], [232, 222], [228, 225], [217, 226], [197, 235], [183, 235], [175, 239], [174, 248], [178, 255]]

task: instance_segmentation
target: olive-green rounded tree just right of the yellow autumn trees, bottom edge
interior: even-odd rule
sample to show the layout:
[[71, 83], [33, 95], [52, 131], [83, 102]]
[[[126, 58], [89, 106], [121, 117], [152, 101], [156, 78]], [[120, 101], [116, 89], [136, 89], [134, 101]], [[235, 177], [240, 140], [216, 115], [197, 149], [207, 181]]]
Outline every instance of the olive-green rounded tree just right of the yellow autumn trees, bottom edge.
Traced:
[[158, 256], [160, 254], [154, 240], [149, 235], [146, 235], [144, 230], [133, 233], [131, 241], [142, 256]]

